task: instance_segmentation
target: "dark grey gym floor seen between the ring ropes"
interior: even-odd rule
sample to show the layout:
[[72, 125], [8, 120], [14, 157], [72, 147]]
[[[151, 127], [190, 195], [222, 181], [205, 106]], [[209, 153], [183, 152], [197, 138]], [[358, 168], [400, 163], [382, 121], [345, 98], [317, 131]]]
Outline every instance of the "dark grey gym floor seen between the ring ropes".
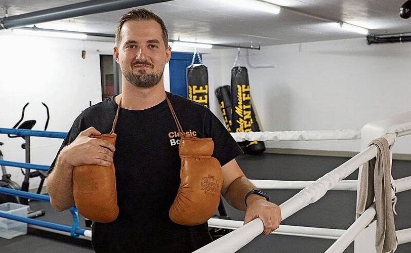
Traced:
[[[325, 173], [333, 170], [345, 162], [348, 158], [320, 157], [303, 155], [263, 154], [261, 156], [243, 155], [239, 157], [244, 174], [250, 179], [270, 180], [315, 180]], [[402, 178], [411, 176], [411, 161], [393, 161], [393, 177]], [[356, 179], [356, 175], [350, 175], [347, 179]], [[298, 190], [264, 190], [270, 195], [270, 199], [277, 204], [292, 197]], [[396, 229], [411, 227], [411, 192], [397, 194]], [[338, 200], [338, 201], [336, 201]], [[38, 219], [52, 221], [60, 224], [71, 225], [69, 212], [58, 213], [49, 204], [31, 202], [32, 209], [43, 208], [46, 216]], [[228, 215], [233, 220], [241, 220], [242, 212], [225, 205]], [[315, 204], [309, 205], [294, 216], [284, 220], [282, 224], [311, 226], [323, 228], [346, 229], [354, 222], [355, 192], [330, 191]], [[80, 225], [84, 227], [83, 221]], [[0, 238], [0, 252], [8, 253], [54, 253], [54, 252], [94, 252], [90, 248], [89, 241], [81, 241], [75, 245], [76, 239], [70, 237], [46, 238], [46, 235], [27, 234], [10, 240]], [[70, 241], [71, 240], [71, 241]], [[334, 240], [313, 239], [296, 236], [268, 235], [259, 236], [251, 243], [239, 250], [239, 252], [324, 252], [333, 244]], [[344, 252], [353, 252], [350, 245]], [[396, 252], [411, 252], [411, 243], [400, 245]]]

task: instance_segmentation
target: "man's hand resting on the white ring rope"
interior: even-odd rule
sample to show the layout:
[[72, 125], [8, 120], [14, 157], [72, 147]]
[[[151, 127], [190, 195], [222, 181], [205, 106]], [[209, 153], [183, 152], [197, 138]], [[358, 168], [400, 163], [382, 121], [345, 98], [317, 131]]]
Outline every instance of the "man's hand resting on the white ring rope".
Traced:
[[255, 194], [247, 198], [248, 208], [245, 211], [244, 224], [260, 218], [264, 224], [264, 235], [276, 230], [281, 222], [281, 209], [278, 205], [268, 202], [264, 197]]

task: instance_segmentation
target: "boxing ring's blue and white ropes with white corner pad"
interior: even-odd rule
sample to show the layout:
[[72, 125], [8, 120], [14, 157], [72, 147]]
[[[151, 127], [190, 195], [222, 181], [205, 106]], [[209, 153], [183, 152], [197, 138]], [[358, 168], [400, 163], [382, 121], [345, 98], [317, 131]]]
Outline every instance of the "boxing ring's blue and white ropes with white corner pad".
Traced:
[[[19, 136], [37, 136], [46, 138], [64, 138], [66, 133], [46, 132], [33, 130], [16, 130], [0, 128], [0, 134], [13, 134]], [[411, 134], [411, 112], [395, 115], [388, 119], [369, 122], [364, 125], [361, 130], [348, 129], [337, 131], [285, 131], [285, 132], [258, 132], [258, 133], [233, 133], [236, 141], [314, 141], [314, 140], [356, 140], [361, 139], [362, 151], [344, 162], [331, 172], [320, 177], [316, 181], [276, 181], [276, 180], [252, 180], [252, 182], [261, 189], [302, 189], [299, 193], [286, 200], [280, 205], [282, 220], [299, 212], [305, 206], [315, 203], [328, 190], [348, 190], [356, 191], [358, 188], [357, 180], [344, 180], [348, 175], [353, 173], [357, 168], [368, 160], [373, 159], [377, 155], [377, 147], [369, 146], [368, 143], [379, 137], [387, 139], [390, 145], [393, 145], [396, 138]], [[390, 153], [390, 161], [392, 161], [392, 151]], [[38, 165], [31, 163], [12, 162], [0, 160], [0, 165], [14, 166], [22, 168], [30, 168], [33, 170], [47, 171], [48, 165]], [[393, 182], [396, 186], [396, 193], [411, 189], [411, 177], [397, 179]], [[12, 190], [0, 187], [0, 193], [15, 195], [30, 199], [35, 199], [44, 202], [50, 202], [50, 198], [46, 195], [28, 193], [25, 191]], [[84, 236], [91, 237], [91, 231], [78, 227], [78, 213], [75, 207], [70, 209], [73, 224], [71, 227], [60, 224], [39, 221], [31, 218], [23, 218], [19, 216], [9, 215], [0, 212], [0, 217], [20, 222], [25, 222], [39, 227], [44, 227], [53, 231], [62, 231], [73, 237]], [[366, 238], [366, 242], [362, 240], [361, 244], [365, 244], [363, 248], [355, 248], [356, 252], [373, 252], [374, 241], [373, 235], [365, 233], [364, 228], [367, 227], [374, 219], [376, 210], [374, 206], [369, 207], [348, 229], [328, 229], [302, 226], [280, 225], [273, 234], [305, 236], [312, 238], [334, 239], [335, 243], [325, 252], [343, 252], [348, 245], [353, 242], [357, 236]], [[355, 215], [355, 214], [353, 214]], [[255, 237], [263, 232], [263, 223], [257, 218], [252, 222], [242, 225], [242, 221], [221, 220], [211, 218], [209, 221], [210, 227], [234, 229], [229, 234], [205, 245], [204, 247], [194, 252], [235, 252], [244, 245], [248, 244]], [[368, 230], [372, 230], [369, 226]], [[375, 228], [374, 228], [375, 234]], [[396, 231], [398, 244], [411, 242], [411, 228]], [[375, 237], [375, 235], [374, 235]]]

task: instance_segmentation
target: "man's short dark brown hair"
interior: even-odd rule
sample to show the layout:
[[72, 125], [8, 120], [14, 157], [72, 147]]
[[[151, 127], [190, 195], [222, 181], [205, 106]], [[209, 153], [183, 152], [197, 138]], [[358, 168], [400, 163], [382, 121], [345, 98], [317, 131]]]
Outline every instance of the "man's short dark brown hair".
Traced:
[[161, 26], [162, 30], [162, 40], [164, 40], [164, 45], [166, 48], [169, 46], [169, 32], [167, 31], [166, 24], [162, 19], [154, 14], [152, 11], [149, 11], [144, 8], [136, 8], [125, 14], [123, 14], [117, 23], [117, 28], [115, 28], [115, 46], [118, 47], [121, 42], [121, 28], [124, 23], [128, 20], [155, 20]]

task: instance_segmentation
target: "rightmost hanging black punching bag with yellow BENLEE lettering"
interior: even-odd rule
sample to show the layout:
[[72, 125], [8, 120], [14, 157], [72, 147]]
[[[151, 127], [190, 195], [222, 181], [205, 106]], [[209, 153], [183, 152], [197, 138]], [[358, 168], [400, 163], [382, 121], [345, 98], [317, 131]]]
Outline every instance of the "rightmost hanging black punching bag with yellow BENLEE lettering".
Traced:
[[[251, 104], [249, 75], [245, 67], [231, 69], [231, 106], [232, 132], [260, 132]], [[261, 154], [265, 151], [264, 142], [261, 141], [245, 141], [239, 144], [244, 145], [245, 153]]]

